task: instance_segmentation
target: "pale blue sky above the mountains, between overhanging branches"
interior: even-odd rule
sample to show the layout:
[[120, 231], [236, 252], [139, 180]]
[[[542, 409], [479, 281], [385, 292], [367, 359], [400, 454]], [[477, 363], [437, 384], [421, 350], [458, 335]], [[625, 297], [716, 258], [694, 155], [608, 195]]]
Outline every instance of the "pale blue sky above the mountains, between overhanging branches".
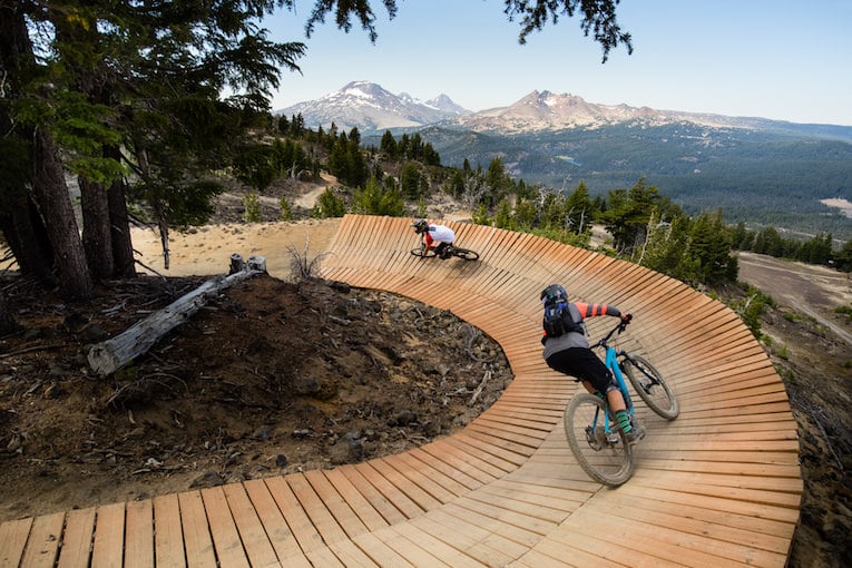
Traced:
[[852, 126], [852, 0], [621, 0], [634, 53], [600, 47], [577, 18], [518, 45], [502, 0], [398, 0], [379, 38], [333, 19], [310, 39], [313, 0], [266, 19], [271, 38], [304, 41], [302, 75], [285, 71], [273, 108], [312, 100], [353, 80], [421, 100], [448, 95], [470, 110], [509, 106], [533, 90], [589, 102]]

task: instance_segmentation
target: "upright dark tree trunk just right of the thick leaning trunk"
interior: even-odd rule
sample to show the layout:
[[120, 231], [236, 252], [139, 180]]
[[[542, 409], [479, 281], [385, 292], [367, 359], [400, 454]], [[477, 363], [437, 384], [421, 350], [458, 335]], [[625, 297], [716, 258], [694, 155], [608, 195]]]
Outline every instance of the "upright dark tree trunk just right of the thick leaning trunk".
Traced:
[[82, 209], [82, 247], [92, 277], [112, 276], [112, 235], [109, 223], [109, 200], [102, 184], [79, 177]]

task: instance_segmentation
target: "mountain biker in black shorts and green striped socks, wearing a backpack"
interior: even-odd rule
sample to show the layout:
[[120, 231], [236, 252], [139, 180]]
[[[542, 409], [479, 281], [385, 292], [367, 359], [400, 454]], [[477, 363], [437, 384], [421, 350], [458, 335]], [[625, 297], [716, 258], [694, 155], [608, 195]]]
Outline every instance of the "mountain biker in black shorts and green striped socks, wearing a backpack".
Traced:
[[[568, 293], [559, 284], [551, 284], [541, 291], [541, 304], [547, 310], [564, 304], [565, 316], [570, 317], [570, 327], [558, 336], [549, 336], [547, 331], [541, 336], [545, 345], [542, 356], [547, 365], [562, 374], [576, 378], [590, 393], [603, 393], [607, 398], [609, 409], [615, 414], [618, 428], [627, 437], [629, 443], [635, 443], [645, 437], [645, 429], [634, 424], [627, 412], [621, 391], [618, 389], [613, 372], [591, 351], [585, 335], [585, 319], [598, 315], [620, 317], [623, 322], [630, 321], [629, 313], [621, 313], [609, 304], [589, 304], [586, 302], [568, 302]], [[542, 323], [542, 327], [543, 327]]]

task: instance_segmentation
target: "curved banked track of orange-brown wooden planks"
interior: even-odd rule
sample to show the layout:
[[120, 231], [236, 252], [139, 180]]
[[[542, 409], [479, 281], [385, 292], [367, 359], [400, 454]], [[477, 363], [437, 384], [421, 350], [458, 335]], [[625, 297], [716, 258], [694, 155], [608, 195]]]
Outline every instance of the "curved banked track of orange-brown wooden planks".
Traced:
[[[636, 265], [490, 227], [452, 225], [479, 262], [417, 258], [409, 223], [344, 217], [323, 275], [491, 335], [516, 376], [491, 409], [404, 454], [8, 521], [0, 567], [784, 566], [802, 496], [796, 424], [735, 314]], [[682, 407], [666, 422], [638, 402], [648, 435], [618, 489], [593, 482], [565, 441], [577, 386], [538, 342], [538, 294], [554, 282], [634, 313], [628, 350]]]

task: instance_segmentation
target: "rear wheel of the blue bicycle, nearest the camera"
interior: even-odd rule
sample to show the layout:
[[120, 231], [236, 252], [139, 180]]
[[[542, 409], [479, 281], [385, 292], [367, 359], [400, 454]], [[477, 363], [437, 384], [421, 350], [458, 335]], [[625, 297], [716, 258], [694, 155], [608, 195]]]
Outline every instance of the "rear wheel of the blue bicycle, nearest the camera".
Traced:
[[606, 403], [587, 392], [575, 394], [565, 409], [565, 437], [588, 476], [618, 487], [633, 476], [633, 449], [621, 431], [609, 425]]

